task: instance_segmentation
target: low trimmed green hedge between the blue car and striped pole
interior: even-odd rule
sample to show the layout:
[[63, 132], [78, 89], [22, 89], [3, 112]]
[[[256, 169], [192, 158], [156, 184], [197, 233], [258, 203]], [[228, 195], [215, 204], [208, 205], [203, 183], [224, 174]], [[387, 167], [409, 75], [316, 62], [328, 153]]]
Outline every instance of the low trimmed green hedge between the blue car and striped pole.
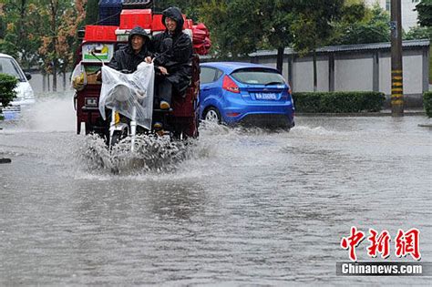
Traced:
[[295, 110], [300, 113], [377, 112], [385, 99], [380, 92], [293, 93]]

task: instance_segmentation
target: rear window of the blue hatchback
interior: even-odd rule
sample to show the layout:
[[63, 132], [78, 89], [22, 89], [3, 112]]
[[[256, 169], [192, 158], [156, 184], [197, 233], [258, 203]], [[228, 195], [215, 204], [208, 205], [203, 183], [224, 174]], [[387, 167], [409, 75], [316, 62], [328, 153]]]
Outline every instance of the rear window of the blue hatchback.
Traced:
[[250, 85], [281, 85], [283, 77], [277, 71], [267, 68], [248, 67], [234, 71], [231, 76], [243, 84]]

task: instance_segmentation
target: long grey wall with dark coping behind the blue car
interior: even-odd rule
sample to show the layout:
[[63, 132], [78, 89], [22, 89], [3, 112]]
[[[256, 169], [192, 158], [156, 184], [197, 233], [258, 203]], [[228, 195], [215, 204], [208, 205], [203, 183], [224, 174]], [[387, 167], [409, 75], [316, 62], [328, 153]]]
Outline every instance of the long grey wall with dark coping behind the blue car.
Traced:
[[[390, 43], [325, 46], [317, 49], [319, 91], [381, 91], [391, 93]], [[276, 50], [262, 50], [241, 60], [276, 67]], [[404, 95], [406, 107], [420, 107], [428, 90], [429, 40], [403, 42]], [[203, 58], [203, 61], [211, 61]], [[312, 55], [300, 57], [286, 48], [283, 77], [293, 91], [314, 90]]]

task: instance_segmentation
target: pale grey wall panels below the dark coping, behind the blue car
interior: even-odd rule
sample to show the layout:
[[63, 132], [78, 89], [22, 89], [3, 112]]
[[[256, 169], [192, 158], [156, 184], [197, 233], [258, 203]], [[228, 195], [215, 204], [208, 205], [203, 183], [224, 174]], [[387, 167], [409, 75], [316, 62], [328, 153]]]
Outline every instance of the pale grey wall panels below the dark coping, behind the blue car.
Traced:
[[[358, 53], [334, 57], [334, 90], [358, 91], [373, 90], [373, 53]], [[258, 64], [276, 67], [275, 57], [258, 57]], [[423, 55], [419, 52], [404, 53], [404, 93], [421, 94], [423, 90]], [[379, 55], [379, 91], [391, 93], [390, 53]], [[288, 64], [283, 65], [283, 77], [287, 80]], [[314, 90], [314, 66], [312, 56], [295, 57], [293, 60], [294, 91], [306, 92]], [[329, 61], [328, 56], [317, 58], [318, 90], [329, 91]]]

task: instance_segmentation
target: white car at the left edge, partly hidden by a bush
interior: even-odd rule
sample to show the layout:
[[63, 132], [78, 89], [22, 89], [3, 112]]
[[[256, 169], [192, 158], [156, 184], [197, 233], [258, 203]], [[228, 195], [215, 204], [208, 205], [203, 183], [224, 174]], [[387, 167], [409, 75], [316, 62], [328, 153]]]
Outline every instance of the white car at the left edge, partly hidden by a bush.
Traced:
[[15, 76], [18, 79], [16, 85], [16, 97], [9, 106], [3, 108], [3, 114], [6, 119], [16, 118], [21, 108], [35, 103], [35, 93], [30, 86], [28, 80], [31, 75], [24, 73], [23, 69], [19, 67], [18, 63], [12, 56], [0, 53], [0, 73]]

